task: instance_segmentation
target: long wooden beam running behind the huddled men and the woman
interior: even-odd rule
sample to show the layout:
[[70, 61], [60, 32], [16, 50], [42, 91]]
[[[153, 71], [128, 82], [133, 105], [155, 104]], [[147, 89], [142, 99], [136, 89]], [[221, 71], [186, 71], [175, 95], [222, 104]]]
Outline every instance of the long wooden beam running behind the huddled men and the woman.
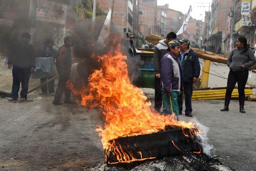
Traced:
[[[154, 34], [148, 35], [145, 38], [146, 41], [155, 43], [155, 44], [157, 44], [160, 40], [163, 40], [163, 39], [165, 39], [165, 38], [158, 36], [158, 35], [154, 35]], [[193, 51], [198, 55], [199, 58], [210, 60], [213, 62], [218, 62], [221, 64], [227, 64], [228, 57], [225, 55], [219, 55], [216, 53], [208, 52], [208, 51], [201, 50], [198, 48], [193, 48], [193, 47], [191, 47], [191, 49], [193, 49]], [[256, 64], [253, 67], [250, 67], [250, 69], [256, 70]]]

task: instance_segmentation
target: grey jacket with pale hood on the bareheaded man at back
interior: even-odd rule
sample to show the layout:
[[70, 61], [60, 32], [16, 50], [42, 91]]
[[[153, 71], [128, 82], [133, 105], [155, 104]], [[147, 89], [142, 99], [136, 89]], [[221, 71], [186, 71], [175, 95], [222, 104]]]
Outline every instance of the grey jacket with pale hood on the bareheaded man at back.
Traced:
[[154, 49], [153, 64], [156, 74], [160, 73], [160, 61], [163, 58], [163, 56], [168, 52], [166, 50], [168, 46], [166, 45], [165, 41], [165, 39], [159, 41], [159, 43]]

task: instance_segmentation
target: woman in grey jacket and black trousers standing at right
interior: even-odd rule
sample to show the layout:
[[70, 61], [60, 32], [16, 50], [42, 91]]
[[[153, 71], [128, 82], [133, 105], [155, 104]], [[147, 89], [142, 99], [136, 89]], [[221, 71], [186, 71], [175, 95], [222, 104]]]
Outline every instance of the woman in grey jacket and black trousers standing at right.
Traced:
[[237, 83], [239, 93], [239, 111], [245, 113], [244, 110], [244, 88], [248, 79], [249, 68], [256, 64], [256, 59], [247, 39], [241, 36], [236, 39], [236, 48], [234, 48], [227, 59], [227, 66], [230, 72], [227, 78], [227, 90], [225, 95], [224, 108], [221, 111], [228, 111], [231, 94]]

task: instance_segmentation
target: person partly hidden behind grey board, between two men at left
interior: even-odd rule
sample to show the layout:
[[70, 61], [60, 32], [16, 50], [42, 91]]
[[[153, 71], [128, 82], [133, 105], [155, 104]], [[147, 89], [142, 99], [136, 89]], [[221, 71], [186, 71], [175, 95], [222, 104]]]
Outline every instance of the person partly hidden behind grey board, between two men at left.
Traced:
[[[57, 57], [57, 51], [52, 47], [54, 45], [54, 41], [50, 38], [47, 38], [44, 42], [44, 45], [37, 49], [36, 51], [36, 57], [37, 58], [51, 58], [54, 59]], [[54, 75], [51, 75], [48, 78], [41, 78], [41, 84], [49, 80], [50, 78], [54, 77]], [[47, 84], [41, 86], [42, 92], [39, 94], [47, 94]], [[54, 95], [54, 80], [48, 83], [48, 90], [50, 95]]]

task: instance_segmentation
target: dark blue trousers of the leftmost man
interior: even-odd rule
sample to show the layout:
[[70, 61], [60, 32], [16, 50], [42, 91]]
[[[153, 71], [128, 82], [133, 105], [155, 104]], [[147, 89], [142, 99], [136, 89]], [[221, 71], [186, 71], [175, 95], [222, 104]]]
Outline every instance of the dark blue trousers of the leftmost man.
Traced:
[[29, 90], [29, 78], [31, 72], [30, 69], [23, 69], [18, 67], [12, 68], [12, 93], [11, 97], [13, 99], [17, 99], [19, 97], [18, 93], [20, 90], [20, 82], [21, 82], [21, 91], [20, 98], [27, 98], [27, 93]]

